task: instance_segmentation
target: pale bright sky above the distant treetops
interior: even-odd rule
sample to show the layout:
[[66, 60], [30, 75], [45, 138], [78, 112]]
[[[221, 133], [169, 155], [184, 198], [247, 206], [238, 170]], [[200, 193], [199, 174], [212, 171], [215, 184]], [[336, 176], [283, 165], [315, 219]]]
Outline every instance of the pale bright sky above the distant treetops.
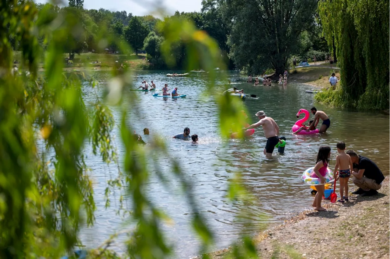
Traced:
[[[34, 0], [36, 3], [47, 3], [50, 0]], [[58, 2], [58, 1], [56, 1]], [[68, 3], [67, 0], [62, 0], [62, 3]], [[64, 5], [64, 4], [62, 4]], [[202, 0], [84, 0], [85, 9], [108, 9], [110, 11], [126, 11], [136, 16], [153, 14], [157, 7], [163, 7], [165, 13], [172, 15], [175, 11], [179, 12], [199, 12], [202, 8]]]

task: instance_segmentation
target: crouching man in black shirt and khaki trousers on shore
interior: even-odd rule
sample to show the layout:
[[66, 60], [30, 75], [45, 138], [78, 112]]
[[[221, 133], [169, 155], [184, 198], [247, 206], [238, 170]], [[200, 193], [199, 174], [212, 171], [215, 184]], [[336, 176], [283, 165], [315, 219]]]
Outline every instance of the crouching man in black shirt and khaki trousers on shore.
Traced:
[[347, 154], [353, 163], [353, 183], [360, 187], [353, 194], [372, 196], [378, 194], [376, 190], [381, 189], [382, 181], [385, 180], [379, 167], [367, 157], [357, 155], [355, 151], [348, 150]]

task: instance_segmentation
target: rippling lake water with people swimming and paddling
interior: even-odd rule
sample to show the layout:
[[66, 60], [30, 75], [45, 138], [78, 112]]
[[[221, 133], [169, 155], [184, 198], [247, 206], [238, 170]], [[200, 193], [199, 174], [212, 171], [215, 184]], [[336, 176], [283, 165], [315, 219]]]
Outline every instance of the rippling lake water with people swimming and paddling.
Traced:
[[[232, 72], [229, 74], [232, 87], [243, 88], [246, 93], [257, 95], [256, 99], [247, 98], [243, 101], [250, 120], [255, 122], [255, 112], [264, 110], [278, 123], [280, 136], [287, 139], [285, 154], [274, 153], [275, 158], [268, 160], [263, 155], [266, 138], [262, 129], [255, 129], [253, 138], [244, 141], [226, 142], [221, 139], [218, 134], [216, 103], [201, 95], [207, 87], [203, 75], [167, 78], [165, 74], [166, 72], [138, 72], [135, 76], [136, 85], [144, 79], [149, 82], [154, 80], [157, 88], [161, 89], [164, 83], [168, 83], [169, 86], [177, 86], [178, 92], [185, 93], [187, 98], [163, 100], [152, 97], [151, 93], [137, 92], [138, 107], [142, 112], [131, 117], [130, 121], [146, 142], [151, 136], [142, 134], [145, 127], [150, 129], [151, 134], [158, 134], [166, 142], [169, 153], [180, 162], [186, 180], [193, 185], [196, 205], [215, 233], [215, 249], [229, 246], [243, 232], [259, 233], [264, 227], [280, 224], [294, 213], [310, 208], [313, 200], [311, 189], [301, 181], [301, 174], [315, 165], [320, 146], [329, 145], [332, 148], [331, 169], [335, 165], [336, 143], [344, 141], [347, 149], [369, 157], [384, 174], [389, 173], [388, 115], [324, 107], [314, 102], [312, 94], [305, 93], [305, 90], [311, 89], [308, 85], [290, 81], [285, 88], [253, 86], [245, 82], [246, 78]], [[105, 85], [108, 73], [100, 71], [93, 76], [101, 85]], [[324, 110], [330, 117], [331, 127], [327, 134], [294, 136], [291, 127], [296, 122], [296, 113], [300, 108], [310, 110], [313, 105]], [[129, 107], [129, 110], [133, 109], [134, 107]], [[116, 108], [113, 108], [113, 114], [118, 122], [119, 113]], [[191, 134], [199, 136], [198, 146], [192, 146], [190, 141], [172, 139], [172, 136], [183, 133], [184, 127], [189, 127]], [[123, 152], [117, 127], [113, 134], [121, 156]], [[160, 159], [159, 163], [163, 173], [170, 175], [170, 161]], [[125, 224], [120, 216], [115, 215], [115, 206], [118, 205], [115, 198], [119, 198], [119, 193], [113, 194], [112, 208], [105, 209], [104, 206], [106, 181], [116, 176], [115, 168], [106, 166], [100, 162], [99, 157], [92, 154], [89, 154], [87, 164], [92, 165], [97, 203], [96, 223], [94, 227], [84, 229], [80, 236], [87, 247], [93, 248], [103, 243], [111, 234], [131, 229], [131, 225]], [[236, 171], [242, 172], [245, 184], [255, 198], [248, 206], [245, 216], [240, 214], [243, 204], [231, 203], [226, 197], [228, 181]], [[189, 226], [190, 208], [180, 194], [177, 180], [168, 181], [170, 188], [161, 184], [152, 171], [151, 182], [145, 188], [151, 201], [174, 222], [164, 226], [169, 242], [175, 246], [174, 257], [193, 257], [197, 255], [199, 243]], [[353, 184], [350, 181], [350, 189], [351, 187], [353, 188]], [[131, 209], [129, 199], [125, 204]], [[125, 234], [120, 235], [113, 249], [122, 252], [122, 242], [126, 239]]]

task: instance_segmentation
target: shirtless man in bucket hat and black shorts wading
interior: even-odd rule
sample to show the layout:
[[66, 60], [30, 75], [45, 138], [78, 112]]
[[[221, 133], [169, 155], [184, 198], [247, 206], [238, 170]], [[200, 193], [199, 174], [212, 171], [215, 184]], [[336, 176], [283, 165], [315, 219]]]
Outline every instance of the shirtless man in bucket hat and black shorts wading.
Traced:
[[279, 126], [278, 124], [276, 124], [273, 118], [267, 117], [264, 111], [258, 111], [255, 115], [259, 117], [259, 121], [250, 125], [249, 127], [244, 128], [244, 130], [254, 129], [259, 126], [263, 127], [264, 135], [267, 138], [266, 148], [264, 148], [264, 155], [266, 155], [266, 157], [270, 159], [272, 158], [272, 152], [276, 144], [278, 144], [278, 142], [282, 142], [278, 137]]

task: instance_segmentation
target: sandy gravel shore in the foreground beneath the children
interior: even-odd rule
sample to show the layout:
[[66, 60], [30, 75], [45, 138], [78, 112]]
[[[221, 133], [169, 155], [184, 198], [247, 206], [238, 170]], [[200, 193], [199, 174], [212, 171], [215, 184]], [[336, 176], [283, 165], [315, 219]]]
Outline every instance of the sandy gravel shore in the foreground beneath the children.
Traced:
[[[259, 257], [390, 258], [389, 176], [378, 191], [371, 197], [350, 195], [346, 203], [326, 202], [326, 211], [306, 210], [264, 231], [255, 237]], [[224, 249], [210, 255], [219, 259], [229, 253]]]

